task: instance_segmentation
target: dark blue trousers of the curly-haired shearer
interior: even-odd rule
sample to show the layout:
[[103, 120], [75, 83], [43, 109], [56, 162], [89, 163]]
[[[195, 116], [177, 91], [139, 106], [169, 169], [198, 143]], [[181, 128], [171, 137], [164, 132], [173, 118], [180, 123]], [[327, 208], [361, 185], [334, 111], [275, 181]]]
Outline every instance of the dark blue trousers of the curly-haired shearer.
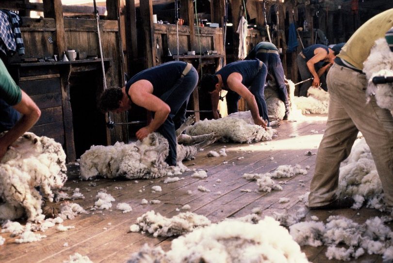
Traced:
[[190, 71], [184, 77], [179, 78], [172, 89], [165, 92], [160, 97], [160, 99], [171, 108], [164, 124], [162, 124], [157, 130], [169, 142], [169, 155], [165, 160], [169, 165], [176, 165], [176, 129], [185, 122], [188, 100], [191, 93], [193, 93], [197, 86], [197, 82], [197, 70], [194, 67], [191, 67]]

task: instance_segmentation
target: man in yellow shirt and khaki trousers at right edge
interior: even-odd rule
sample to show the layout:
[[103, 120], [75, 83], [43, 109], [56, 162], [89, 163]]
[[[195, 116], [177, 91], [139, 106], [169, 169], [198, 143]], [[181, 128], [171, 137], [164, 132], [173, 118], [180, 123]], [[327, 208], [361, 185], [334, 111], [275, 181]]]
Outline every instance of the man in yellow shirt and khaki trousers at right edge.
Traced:
[[364, 23], [348, 40], [328, 72], [328, 122], [318, 149], [311, 181], [310, 209], [349, 208], [352, 198], [338, 199], [340, 163], [349, 155], [360, 131], [373, 155], [388, 209], [393, 208], [393, 117], [375, 97], [366, 103], [363, 62], [371, 47], [393, 27], [393, 9]]

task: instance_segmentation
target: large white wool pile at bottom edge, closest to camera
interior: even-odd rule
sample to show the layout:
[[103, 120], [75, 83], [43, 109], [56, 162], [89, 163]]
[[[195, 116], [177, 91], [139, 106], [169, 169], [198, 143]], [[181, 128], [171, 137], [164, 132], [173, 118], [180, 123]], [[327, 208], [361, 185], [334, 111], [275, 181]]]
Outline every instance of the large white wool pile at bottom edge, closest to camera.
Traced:
[[144, 247], [128, 263], [307, 263], [289, 232], [272, 217], [258, 224], [224, 220], [172, 241], [171, 249]]

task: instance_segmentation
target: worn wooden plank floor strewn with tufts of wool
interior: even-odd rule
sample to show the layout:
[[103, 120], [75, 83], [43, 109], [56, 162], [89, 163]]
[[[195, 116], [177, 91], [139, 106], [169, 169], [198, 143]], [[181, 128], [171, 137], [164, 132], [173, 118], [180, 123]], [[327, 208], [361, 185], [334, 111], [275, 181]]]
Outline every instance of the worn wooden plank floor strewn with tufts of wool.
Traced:
[[[95, 196], [100, 189], [106, 189], [115, 201], [113, 210], [91, 211], [88, 215], [79, 215], [74, 220], [66, 220], [66, 226], [75, 226], [75, 229], [66, 232], [57, 232], [55, 227], [42, 234], [48, 237], [40, 242], [16, 244], [15, 238], [7, 233], [1, 233], [6, 243], [0, 246], [0, 262], [63, 262], [70, 255], [78, 252], [86, 255], [94, 263], [126, 262], [130, 255], [138, 251], [145, 243], [160, 245], [164, 250], [170, 248], [171, 238], [154, 238], [149, 234], [131, 233], [130, 225], [143, 213], [154, 210], [166, 217], [172, 217], [180, 212], [176, 211], [184, 204], [191, 206], [191, 211], [208, 217], [212, 222], [218, 222], [226, 217], [242, 217], [251, 214], [255, 207], [263, 209], [263, 215], [270, 215], [275, 211], [296, 211], [303, 203], [298, 196], [309, 191], [310, 181], [314, 169], [315, 155], [306, 155], [307, 151], [316, 153], [319, 141], [325, 129], [325, 116], [310, 117], [302, 122], [281, 121], [278, 127], [278, 138], [252, 144], [215, 143], [199, 152], [197, 158], [184, 162], [190, 169], [205, 169], [208, 177], [205, 179], [192, 178], [193, 171], [180, 175], [184, 180], [164, 184], [163, 178], [153, 180], [109, 180], [99, 179], [97, 186], [88, 186], [91, 181], [80, 181], [77, 178], [77, 167], [70, 167], [69, 180], [66, 186], [71, 189], [79, 187], [85, 200], [76, 200], [88, 210], [94, 205]], [[318, 131], [318, 134], [311, 130]], [[297, 137], [292, 137], [297, 134]], [[219, 151], [226, 146], [226, 157], [206, 157], [211, 151]], [[243, 159], [238, 160], [238, 157]], [[273, 158], [272, 158], [273, 157]], [[223, 161], [227, 161], [224, 164]], [[283, 190], [273, 190], [270, 193], [254, 191], [257, 189], [255, 181], [242, 178], [244, 173], [264, 173], [275, 170], [279, 165], [300, 164], [303, 168], [310, 166], [307, 175], [297, 175], [293, 178], [276, 179], [287, 181], [282, 185]], [[221, 182], [217, 183], [217, 179]], [[162, 192], [151, 192], [151, 186], [161, 186]], [[205, 186], [211, 192], [201, 192], [197, 186]], [[242, 192], [241, 189], [251, 189], [251, 192]], [[139, 192], [141, 190], [141, 192]], [[187, 194], [191, 190], [192, 194]], [[217, 194], [221, 192], [221, 194]], [[71, 192], [68, 192], [71, 193]], [[289, 197], [290, 201], [279, 203], [281, 197]], [[142, 199], [161, 200], [159, 204], [141, 205]], [[122, 213], [116, 210], [116, 204], [127, 202], [132, 211]], [[325, 220], [331, 215], [344, 215], [358, 223], [364, 223], [372, 216], [381, 216], [376, 210], [361, 208], [360, 210], [336, 211], [308, 211], [306, 218], [317, 216]], [[64, 244], [67, 243], [68, 246]], [[328, 260], [325, 256], [326, 247], [302, 247], [310, 262], [336, 263], [340, 261]], [[380, 256], [364, 255], [352, 262], [371, 263], [382, 262]]]

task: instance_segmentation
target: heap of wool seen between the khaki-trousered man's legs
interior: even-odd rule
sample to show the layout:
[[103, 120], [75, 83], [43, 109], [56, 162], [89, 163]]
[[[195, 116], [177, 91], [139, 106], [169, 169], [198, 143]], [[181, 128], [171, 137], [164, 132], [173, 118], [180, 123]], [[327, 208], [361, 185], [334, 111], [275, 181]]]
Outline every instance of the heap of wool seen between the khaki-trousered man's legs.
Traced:
[[363, 201], [367, 206], [384, 210], [383, 191], [377, 168], [365, 139], [359, 139], [340, 168], [338, 195], [351, 196], [360, 208]]

